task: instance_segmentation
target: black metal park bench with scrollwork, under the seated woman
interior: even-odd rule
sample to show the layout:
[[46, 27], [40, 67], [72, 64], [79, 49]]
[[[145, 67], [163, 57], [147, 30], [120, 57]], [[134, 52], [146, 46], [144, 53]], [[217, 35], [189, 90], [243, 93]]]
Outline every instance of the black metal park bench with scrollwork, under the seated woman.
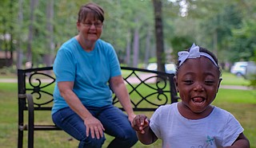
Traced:
[[[121, 68], [134, 111], [155, 111], [160, 105], [178, 102], [174, 74]], [[28, 130], [30, 148], [34, 147], [34, 130], [61, 130], [54, 123], [35, 120], [35, 113], [51, 111], [54, 83], [52, 67], [18, 69], [18, 147], [23, 146], [24, 130]], [[115, 95], [113, 103], [122, 109]]]

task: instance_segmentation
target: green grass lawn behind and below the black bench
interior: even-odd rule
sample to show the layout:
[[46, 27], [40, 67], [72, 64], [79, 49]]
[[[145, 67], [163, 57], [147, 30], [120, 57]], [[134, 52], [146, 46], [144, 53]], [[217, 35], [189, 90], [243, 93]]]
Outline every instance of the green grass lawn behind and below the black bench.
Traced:
[[[242, 78], [223, 73], [223, 84], [246, 85]], [[235, 82], [233, 82], [235, 81]], [[2, 148], [17, 147], [18, 140], [18, 99], [17, 84], [0, 84], [0, 145]], [[250, 139], [251, 148], [256, 148], [256, 91], [255, 90], [231, 90], [220, 89], [214, 105], [230, 111], [244, 127], [246, 137]], [[147, 112], [151, 116], [153, 112]], [[40, 122], [50, 123], [50, 113], [40, 112], [36, 115]], [[27, 132], [24, 133], [24, 147], [26, 147]], [[34, 146], [37, 148], [48, 147], [77, 147], [78, 141], [70, 138], [64, 131], [35, 131]], [[112, 137], [106, 135], [103, 147], [110, 143]], [[138, 142], [134, 148], [161, 147], [161, 140], [150, 146], [144, 146]]]

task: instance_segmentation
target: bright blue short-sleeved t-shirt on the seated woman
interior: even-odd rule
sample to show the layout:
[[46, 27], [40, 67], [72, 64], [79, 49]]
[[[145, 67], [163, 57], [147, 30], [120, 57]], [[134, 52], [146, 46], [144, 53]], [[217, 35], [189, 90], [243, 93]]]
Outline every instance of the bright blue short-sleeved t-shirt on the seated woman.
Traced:
[[86, 52], [73, 37], [58, 50], [54, 74], [56, 85], [52, 114], [68, 107], [58, 90], [60, 81], [73, 81], [74, 93], [86, 106], [103, 107], [111, 104], [112, 92], [108, 81], [113, 76], [120, 76], [121, 69], [112, 45], [98, 39], [94, 50]]

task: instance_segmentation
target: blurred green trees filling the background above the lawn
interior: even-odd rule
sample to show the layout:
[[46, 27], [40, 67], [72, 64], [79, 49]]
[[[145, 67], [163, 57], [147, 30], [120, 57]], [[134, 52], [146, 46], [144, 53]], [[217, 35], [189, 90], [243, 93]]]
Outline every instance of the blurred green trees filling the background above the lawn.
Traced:
[[[1, 0], [0, 67], [52, 65], [60, 45], [77, 34], [78, 9], [86, 2], [91, 1]], [[227, 70], [234, 61], [256, 59], [254, 0], [93, 2], [106, 11], [102, 39], [114, 45], [127, 66], [157, 62], [162, 71], [164, 63], [175, 62], [178, 51], [193, 42], [213, 51]], [[159, 26], [162, 35], [157, 35]]]

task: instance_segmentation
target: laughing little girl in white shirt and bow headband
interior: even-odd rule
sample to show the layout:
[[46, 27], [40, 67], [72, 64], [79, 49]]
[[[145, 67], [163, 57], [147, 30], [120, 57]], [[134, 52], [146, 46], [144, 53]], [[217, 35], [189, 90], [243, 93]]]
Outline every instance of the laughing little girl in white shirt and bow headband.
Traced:
[[160, 138], [164, 148], [249, 148], [238, 120], [210, 105], [222, 81], [216, 56], [196, 45], [178, 56], [174, 82], [182, 101], [159, 107], [150, 120], [137, 115], [132, 126], [140, 142]]

